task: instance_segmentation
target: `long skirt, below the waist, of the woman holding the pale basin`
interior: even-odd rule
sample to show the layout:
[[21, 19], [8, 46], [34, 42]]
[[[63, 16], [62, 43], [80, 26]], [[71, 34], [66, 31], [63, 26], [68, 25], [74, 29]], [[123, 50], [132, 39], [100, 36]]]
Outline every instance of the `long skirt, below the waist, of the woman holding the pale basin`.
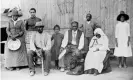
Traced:
[[[7, 39], [7, 42], [10, 38]], [[5, 67], [19, 67], [27, 66], [27, 50], [25, 44], [25, 36], [17, 38], [21, 41], [21, 47], [18, 50], [12, 51], [8, 49], [7, 43], [5, 44]]]

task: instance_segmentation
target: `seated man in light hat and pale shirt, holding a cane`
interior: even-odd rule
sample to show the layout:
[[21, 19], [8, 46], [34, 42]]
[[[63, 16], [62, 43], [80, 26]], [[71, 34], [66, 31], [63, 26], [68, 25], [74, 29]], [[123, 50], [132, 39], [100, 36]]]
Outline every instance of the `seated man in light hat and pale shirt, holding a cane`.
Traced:
[[35, 66], [34, 66], [34, 57], [43, 57], [43, 61], [45, 60], [44, 65], [44, 75], [48, 75], [50, 71], [50, 63], [51, 63], [51, 37], [47, 32], [43, 31], [44, 25], [41, 22], [36, 23], [36, 27], [38, 32], [33, 34], [32, 39], [30, 41], [30, 51], [28, 52], [28, 63], [30, 69], [30, 75], [35, 75]]

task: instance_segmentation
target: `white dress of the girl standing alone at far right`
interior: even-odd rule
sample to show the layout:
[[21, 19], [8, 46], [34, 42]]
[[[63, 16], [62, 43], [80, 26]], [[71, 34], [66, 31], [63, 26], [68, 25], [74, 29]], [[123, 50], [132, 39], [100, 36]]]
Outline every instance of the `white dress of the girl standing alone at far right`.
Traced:
[[127, 46], [128, 36], [130, 36], [130, 26], [127, 22], [119, 22], [116, 25], [115, 38], [117, 38], [118, 47], [115, 47], [114, 55], [117, 57], [132, 56], [131, 43]]

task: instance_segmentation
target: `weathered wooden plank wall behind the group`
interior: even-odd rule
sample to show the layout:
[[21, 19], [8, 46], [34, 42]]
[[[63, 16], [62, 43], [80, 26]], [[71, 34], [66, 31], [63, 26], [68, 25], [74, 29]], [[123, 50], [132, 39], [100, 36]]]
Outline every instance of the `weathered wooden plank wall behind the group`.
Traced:
[[[55, 24], [61, 28], [69, 28], [70, 22], [76, 20], [81, 24], [90, 11], [93, 20], [98, 22], [109, 37], [110, 47], [114, 47], [114, 30], [116, 17], [121, 10], [130, 16], [131, 34], [133, 38], [133, 0], [21, 0], [24, 19], [30, 17], [29, 9], [37, 9], [37, 16], [43, 19], [46, 29]], [[64, 31], [63, 31], [64, 32]], [[132, 43], [133, 45], [133, 43]]]

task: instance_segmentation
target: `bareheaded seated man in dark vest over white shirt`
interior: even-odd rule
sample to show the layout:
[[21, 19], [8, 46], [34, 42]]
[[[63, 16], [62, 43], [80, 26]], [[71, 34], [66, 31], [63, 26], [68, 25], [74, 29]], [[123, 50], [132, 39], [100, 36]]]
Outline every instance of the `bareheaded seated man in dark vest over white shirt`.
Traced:
[[66, 31], [61, 45], [61, 51], [66, 49], [65, 55], [62, 57], [64, 64], [60, 66], [61, 71], [65, 70], [65, 66], [70, 70], [72, 59], [74, 56], [80, 55], [79, 51], [84, 47], [84, 33], [78, 30], [78, 22], [73, 21], [71, 26], [72, 28]]

